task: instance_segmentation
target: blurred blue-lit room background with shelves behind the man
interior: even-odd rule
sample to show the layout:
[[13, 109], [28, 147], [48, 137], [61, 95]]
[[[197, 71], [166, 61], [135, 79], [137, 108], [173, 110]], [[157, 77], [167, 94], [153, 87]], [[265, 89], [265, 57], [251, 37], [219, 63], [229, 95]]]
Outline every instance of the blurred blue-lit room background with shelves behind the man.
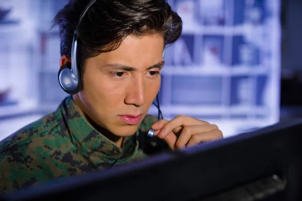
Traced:
[[[302, 115], [302, 1], [170, 0], [183, 20], [166, 48], [160, 103], [224, 137]], [[0, 140], [56, 110], [55, 14], [67, 0], [0, 0]], [[157, 116], [157, 109], [150, 108]]]

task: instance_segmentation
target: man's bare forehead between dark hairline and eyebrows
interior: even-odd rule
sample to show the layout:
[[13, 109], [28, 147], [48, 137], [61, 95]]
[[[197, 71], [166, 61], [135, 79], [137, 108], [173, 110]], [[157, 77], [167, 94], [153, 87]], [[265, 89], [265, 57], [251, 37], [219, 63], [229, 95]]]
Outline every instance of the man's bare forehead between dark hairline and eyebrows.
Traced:
[[99, 64], [120, 63], [133, 67], [146, 67], [163, 60], [164, 37], [160, 34], [127, 36], [111, 52], [101, 53], [95, 59]]

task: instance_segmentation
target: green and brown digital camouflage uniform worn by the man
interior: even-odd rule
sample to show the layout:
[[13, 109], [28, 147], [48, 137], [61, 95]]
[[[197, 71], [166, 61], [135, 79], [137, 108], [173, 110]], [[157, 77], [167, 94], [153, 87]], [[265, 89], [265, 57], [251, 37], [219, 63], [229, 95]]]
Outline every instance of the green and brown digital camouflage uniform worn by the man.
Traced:
[[120, 148], [95, 130], [68, 96], [55, 112], [0, 142], [0, 193], [103, 170], [167, 149], [158, 138], [145, 137], [156, 121], [147, 115]]

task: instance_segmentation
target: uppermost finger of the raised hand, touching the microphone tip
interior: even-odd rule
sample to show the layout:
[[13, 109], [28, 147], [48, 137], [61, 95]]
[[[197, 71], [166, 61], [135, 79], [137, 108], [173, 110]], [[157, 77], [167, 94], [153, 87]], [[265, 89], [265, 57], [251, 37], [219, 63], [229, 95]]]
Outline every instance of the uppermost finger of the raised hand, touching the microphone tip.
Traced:
[[171, 131], [178, 133], [183, 127], [192, 125], [209, 125], [209, 123], [192, 117], [179, 115], [166, 122], [158, 136], [165, 138]]

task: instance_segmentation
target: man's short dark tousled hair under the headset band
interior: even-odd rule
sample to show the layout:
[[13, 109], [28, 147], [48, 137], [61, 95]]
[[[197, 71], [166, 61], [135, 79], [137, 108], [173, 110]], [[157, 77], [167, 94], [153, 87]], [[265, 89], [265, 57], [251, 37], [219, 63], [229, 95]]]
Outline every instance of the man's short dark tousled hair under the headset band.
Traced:
[[61, 55], [70, 56], [73, 33], [77, 30], [77, 63], [82, 75], [88, 58], [118, 48], [130, 34], [162, 34], [165, 46], [181, 35], [182, 20], [165, 0], [97, 0], [78, 26], [89, 2], [69, 0], [53, 20], [53, 26], [59, 25]]

